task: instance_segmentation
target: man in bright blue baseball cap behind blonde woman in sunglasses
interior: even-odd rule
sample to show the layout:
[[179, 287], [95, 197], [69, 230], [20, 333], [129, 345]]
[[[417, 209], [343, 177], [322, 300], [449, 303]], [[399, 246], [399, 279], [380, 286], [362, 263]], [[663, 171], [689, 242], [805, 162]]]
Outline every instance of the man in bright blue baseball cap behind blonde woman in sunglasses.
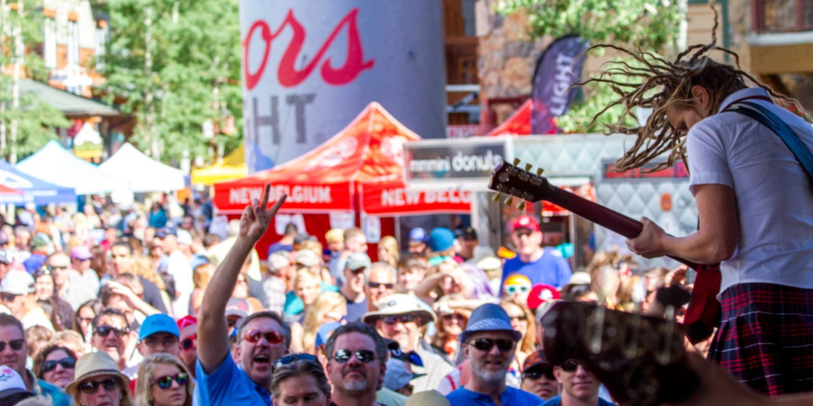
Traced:
[[[153, 314], [144, 319], [138, 330], [138, 353], [143, 357], [165, 352], [178, 357], [180, 352], [180, 330], [175, 319], [164, 313]], [[124, 369], [122, 374], [128, 378], [138, 378], [138, 365]]]

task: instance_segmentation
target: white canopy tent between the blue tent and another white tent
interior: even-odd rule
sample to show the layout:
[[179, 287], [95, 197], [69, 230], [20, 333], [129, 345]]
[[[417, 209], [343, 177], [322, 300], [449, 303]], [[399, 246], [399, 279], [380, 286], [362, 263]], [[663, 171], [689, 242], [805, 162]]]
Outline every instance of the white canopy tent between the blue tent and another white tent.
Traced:
[[127, 181], [108, 175], [76, 157], [54, 140], [17, 164], [17, 169], [51, 184], [73, 188], [77, 195], [93, 195], [127, 188]]

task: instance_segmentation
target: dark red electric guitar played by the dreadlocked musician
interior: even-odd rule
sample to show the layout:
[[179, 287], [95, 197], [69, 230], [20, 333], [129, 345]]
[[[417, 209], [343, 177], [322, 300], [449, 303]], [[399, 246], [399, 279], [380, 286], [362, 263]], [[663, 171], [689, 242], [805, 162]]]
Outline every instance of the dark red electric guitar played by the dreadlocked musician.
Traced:
[[[517, 208], [520, 210], [524, 209], [525, 201], [550, 201], [624, 237], [635, 238], [641, 234], [641, 222], [550, 184], [542, 176], [541, 168], [531, 173], [530, 164], [526, 164], [524, 169], [519, 164], [520, 160], [515, 159], [513, 165], [502, 162], [494, 168], [489, 181], [489, 189], [498, 192], [494, 201], [498, 201], [500, 193], [511, 195], [506, 198], [506, 205], [511, 205], [513, 197], [519, 197], [521, 201]], [[720, 265], [702, 265], [669, 257], [698, 271], [683, 324], [689, 341], [699, 343], [720, 325], [720, 302], [716, 298], [720, 291]]]

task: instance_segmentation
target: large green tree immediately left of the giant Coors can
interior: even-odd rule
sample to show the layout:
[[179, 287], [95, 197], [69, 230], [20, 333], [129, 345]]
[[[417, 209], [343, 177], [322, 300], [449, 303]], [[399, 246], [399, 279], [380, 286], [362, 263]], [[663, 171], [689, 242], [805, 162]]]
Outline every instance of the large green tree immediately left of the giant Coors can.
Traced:
[[[241, 125], [240, 24], [237, 0], [111, 0], [107, 94], [135, 114], [134, 143], [165, 162], [212, 145], [202, 124]], [[240, 128], [238, 127], [238, 133]], [[214, 142], [236, 144], [216, 134]], [[230, 145], [230, 146], [232, 146]]]

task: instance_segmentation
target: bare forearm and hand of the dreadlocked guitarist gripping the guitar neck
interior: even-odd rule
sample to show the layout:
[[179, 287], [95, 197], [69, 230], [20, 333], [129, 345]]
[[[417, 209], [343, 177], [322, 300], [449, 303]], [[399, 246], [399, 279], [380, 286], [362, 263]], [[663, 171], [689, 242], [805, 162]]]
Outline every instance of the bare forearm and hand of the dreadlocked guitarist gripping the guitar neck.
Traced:
[[644, 229], [641, 235], [627, 240], [628, 247], [647, 258], [672, 255], [701, 264], [730, 258], [737, 248], [740, 232], [733, 189], [722, 184], [701, 184], [694, 188], [700, 217], [698, 231], [674, 237], [649, 218], [642, 218]]

